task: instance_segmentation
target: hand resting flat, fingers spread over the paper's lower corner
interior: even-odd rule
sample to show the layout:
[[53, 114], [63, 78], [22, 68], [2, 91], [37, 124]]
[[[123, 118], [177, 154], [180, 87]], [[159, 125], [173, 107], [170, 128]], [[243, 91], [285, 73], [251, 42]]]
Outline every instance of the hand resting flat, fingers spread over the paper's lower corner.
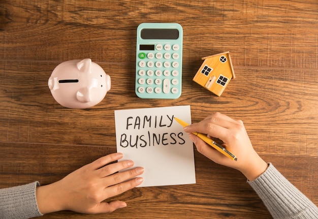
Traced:
[[122, 153], [106, 155], [57, 182], [37, 187], [36, 197], [40, 212], [45, 214], [72, 210], [96, 214], [125, 207], [126, 203], [123, 201], [103, 202], [133, 189], [143, 181], [143, 178], [136, 177], [143, 173], [142, 167], [116, 173], [134, 166], [133, 161], [109, 164], [122, 157]]

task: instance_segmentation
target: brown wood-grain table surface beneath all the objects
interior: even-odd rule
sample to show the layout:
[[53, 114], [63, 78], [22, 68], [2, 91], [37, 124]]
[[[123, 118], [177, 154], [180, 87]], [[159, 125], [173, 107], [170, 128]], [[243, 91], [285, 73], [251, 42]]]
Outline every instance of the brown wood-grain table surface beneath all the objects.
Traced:
[[[215, 111], [242, 119], [261, 157], [318, 205], [318, 3], [302, 2], [0, 1], [0, 187], [48, 184], [115, 152], [114, 110], [190, 105], [193, 122]], [[176, 100], [135, 95], [142, 22], [183, 27]], [[217, 97], [192, 78], [201, 57], [225, 51], [237, 78]], [[81, 58], [112, 88], [90, 109], [67, 109], [47, 81], [60, 62]], [[271, 218], [240, 172], [194, 150], [196, 184], [133, 189], [114, 198], [128, 207], [108, 215], [42, 218]]]

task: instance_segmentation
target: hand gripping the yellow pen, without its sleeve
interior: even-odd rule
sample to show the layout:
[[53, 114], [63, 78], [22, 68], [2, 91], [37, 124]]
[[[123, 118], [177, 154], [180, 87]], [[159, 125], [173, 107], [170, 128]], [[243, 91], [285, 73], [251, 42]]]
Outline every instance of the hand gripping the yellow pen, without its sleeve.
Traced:
[[[267, 169], [267, 163], [253, 149], [244, 124], [241, 120], [232, 119], [221, 113], [213, 113], [204, 120], [184, 127], [197, 150], [215, 163], [228, 166], [242, 172], [248, 180], [254, 180]], [[224, 146], [235, 154], [237, 161], [232, 161], [220, 153], [198, 136], [192, 134], [200, 132], [222, 140]]]

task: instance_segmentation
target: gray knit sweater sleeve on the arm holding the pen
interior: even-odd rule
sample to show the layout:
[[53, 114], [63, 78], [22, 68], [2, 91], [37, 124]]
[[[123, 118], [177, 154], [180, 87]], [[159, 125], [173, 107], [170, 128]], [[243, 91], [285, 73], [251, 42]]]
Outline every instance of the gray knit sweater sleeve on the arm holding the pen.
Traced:
[[248, 183], [273, 218], [318, 218], [318, 208], [272, 164], [261, 176]]

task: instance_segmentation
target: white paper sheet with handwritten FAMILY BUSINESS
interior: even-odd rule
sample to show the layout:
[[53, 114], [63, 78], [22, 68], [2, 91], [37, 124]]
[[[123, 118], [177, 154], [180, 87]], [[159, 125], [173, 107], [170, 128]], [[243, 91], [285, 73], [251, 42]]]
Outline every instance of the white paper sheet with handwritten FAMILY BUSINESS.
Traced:
[[117, 152], [144, 167], [140, 187], [196, 183], [193, 143], [173, 117], [190, 124], [190, 106], [115, 111]]

